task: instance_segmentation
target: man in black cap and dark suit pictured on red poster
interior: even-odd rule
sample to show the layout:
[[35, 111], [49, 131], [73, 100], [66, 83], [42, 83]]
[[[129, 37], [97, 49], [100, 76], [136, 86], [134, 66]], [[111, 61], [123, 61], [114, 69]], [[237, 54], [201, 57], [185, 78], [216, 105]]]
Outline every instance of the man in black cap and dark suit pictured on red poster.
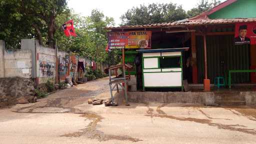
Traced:
[[247, 37], [247, 25], [239, 26], [239, 35], [234, 38], [235, 44], [249, 44], [250, 38]]

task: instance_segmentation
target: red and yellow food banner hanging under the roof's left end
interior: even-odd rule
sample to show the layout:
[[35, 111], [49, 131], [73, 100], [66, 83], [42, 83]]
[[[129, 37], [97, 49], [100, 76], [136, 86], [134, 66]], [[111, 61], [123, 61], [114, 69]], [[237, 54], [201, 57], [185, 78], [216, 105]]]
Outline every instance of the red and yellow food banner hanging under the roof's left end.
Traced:
[[108, 49], [151, 48], [151, 31], [107, 32]]

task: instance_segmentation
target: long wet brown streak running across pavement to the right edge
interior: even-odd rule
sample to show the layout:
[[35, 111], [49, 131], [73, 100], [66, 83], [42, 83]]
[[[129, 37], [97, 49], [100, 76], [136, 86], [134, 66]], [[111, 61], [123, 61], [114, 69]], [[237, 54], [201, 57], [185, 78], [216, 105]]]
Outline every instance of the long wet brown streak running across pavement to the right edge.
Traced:
[[[159, 111], [160, 107], [161, 106], [158, 107], [158, 111]], [[169, 119], [175, 119], [175, 120], [180, 120], [180, 121], [192, 121], [192, 122], [196, 122], [196, 123], [207, 124], [209, 126], [215, 126], [215, 127], [219, 128], [219, 129], [226, 129], [226, 130], [231, 130], [231, 131], [239, 131], [239, 132], [243, 132], [243, 133], [248, 133], [248, 134], [256, 135], [256, 130], [255, 129], [253, 129], [253, 128], [244, 128], [246, 126], [240, 125], [240, 124], [214, 123], [210, 119], [201, 119], [201, 118], [192, 118], [192, 117], [176, 117], [176, 116], [173, 116], [173, 115], [160, 114], [159, 112], [158, 112], [158, 114], [151, 114], [151, 115], [150, 114], [146, 114], [145, 116], [169, 118]]]

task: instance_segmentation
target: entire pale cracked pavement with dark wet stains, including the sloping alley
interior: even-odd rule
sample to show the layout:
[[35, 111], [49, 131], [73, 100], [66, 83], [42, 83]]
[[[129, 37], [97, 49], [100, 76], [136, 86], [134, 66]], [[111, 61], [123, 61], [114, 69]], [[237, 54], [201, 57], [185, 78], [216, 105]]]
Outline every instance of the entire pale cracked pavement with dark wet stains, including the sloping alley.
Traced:
[[255, 143], [256, 106], [87, 104], [109, 95], [103, 78], [0, 109], [0, 143]]

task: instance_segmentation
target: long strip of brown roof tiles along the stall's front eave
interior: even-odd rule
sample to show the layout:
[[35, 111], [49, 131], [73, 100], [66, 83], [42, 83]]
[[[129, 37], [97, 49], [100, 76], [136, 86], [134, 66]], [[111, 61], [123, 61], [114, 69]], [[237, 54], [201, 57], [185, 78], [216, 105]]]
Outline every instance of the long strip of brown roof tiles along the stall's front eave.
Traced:
[[182, 25], [192, 26], [192, 25], [209, 25], [209, 24], [228, 24], [237, 22], [253, 22], [256, 18], [234, 18], [234, 19], [183, 19], [174, 22], [164, 22], [164, 23], [153, 23], [145, 25], [125, 25], [119, 27], [107, 27], [106, 29], [125, 29], [125, 28], [153, 28], [153, 27], [179, 27]]

